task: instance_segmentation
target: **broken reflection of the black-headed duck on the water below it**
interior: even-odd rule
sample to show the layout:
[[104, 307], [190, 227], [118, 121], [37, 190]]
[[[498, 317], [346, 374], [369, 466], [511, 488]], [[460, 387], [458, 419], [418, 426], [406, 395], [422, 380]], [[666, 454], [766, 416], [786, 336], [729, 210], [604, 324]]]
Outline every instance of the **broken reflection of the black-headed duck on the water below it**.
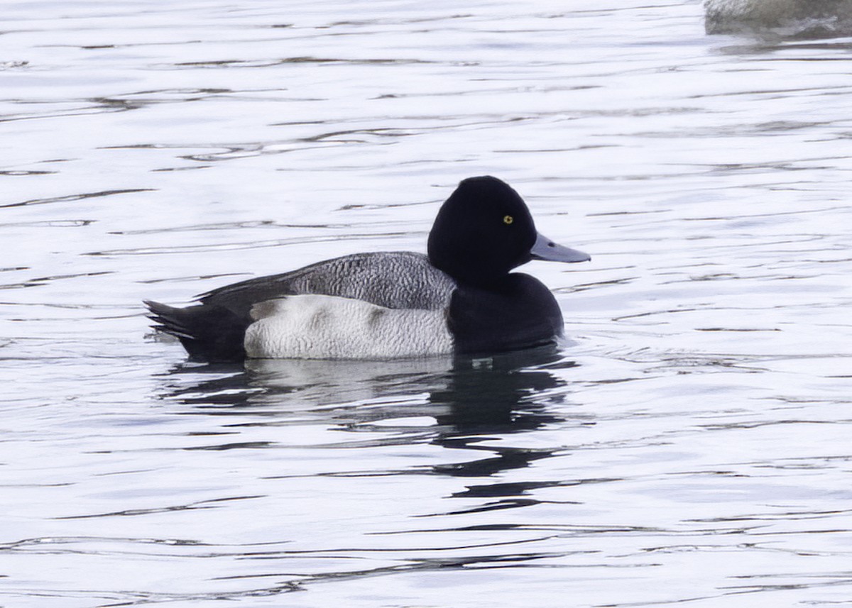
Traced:
[[[487, 358], [269, 359], [251, 361], [245, 368], [181, 364], [167, 376], [164, 398], [192, 405], [196, 414], [251, 416], [247, 426], [304, 424], [307, 416], [310, 423], [364, 434], [364, 440], [355, 440], [355, 445], [363, 447], [422, 444], [431, 438], [435, 445], [454, 450], [485, 451], [486, 458], [430, 470], [487, 476], [526, 467], [561, 450], [481, 443], [496, 434], [524, 433], [563, 422], [548, 410], [560, 399], [558, 389], [567, 385], [556, 370], [574, 365], [550, 346]], [[258, 415], [264, 420], [257, 422]], [[418, 416], [428, 416], [429, 424], [412, 426]], [[400, 419], [406, 419], [405, 424], [394, 426], [393, 421]], [[341, 443], [341, 447], [352, 446], [351, 440]]]

